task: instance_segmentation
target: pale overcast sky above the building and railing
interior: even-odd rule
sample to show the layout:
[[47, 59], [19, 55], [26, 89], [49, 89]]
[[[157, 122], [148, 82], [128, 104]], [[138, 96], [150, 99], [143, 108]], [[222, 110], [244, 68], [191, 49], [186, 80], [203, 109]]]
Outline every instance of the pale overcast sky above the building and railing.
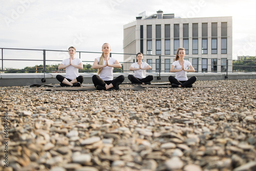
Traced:
[[[0, 0], [0, 3], [0, 48], [67, 50], [75, 45], [77, 51], [100, 52], [102, 44], [109, 42], [113, 53], [123, 53], [123, 25], [143, 11], [151, 15], [162, 10], [176, 17], [232, 16], [233, 58], [256, 55], [255, 0]], [[8, 56], [9, 51], [4, 52], [4, 57], [12, 57]], [[28, 52], [12, 54], [22, 56]], [[59, 60], [65, 58], [63, 54], [57, 55]], [[41, 52], [37, 56], [41, 59]], [[86, 55], [86, 60], [94, 58]], [[116, 58], [123, 60], [121, 56]], [[24, 68], [28, 63], [5, 61], [4, 67]]]

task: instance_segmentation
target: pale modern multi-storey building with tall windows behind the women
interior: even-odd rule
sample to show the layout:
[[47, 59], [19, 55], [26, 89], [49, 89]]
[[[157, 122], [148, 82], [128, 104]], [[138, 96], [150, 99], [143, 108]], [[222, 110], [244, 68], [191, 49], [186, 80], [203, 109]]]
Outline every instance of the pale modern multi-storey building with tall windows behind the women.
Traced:
[[[232, 17], [181, 18], [159, 10], [123, 26], [124, 62], [142, 52], [151, 72], [169, 72], [179, 47], [197, 72], [232, 71]], [[124, 70], [130, 66], [125, 63]]]

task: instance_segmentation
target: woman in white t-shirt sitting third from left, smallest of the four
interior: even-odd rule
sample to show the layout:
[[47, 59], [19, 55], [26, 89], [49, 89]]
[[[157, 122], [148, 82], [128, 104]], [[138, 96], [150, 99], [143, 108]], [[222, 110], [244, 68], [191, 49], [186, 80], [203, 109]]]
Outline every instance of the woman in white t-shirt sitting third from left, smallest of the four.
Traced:
[[136, 55], [137, 62], [133, 63], [129, 70], [134, 71], [134, 75], [128, 75], [128, 79], [132, 83], [150, 84], [154, 76], [146, 76], [146, 70], [151, 70], [151, 66], [146, 62], [142, 62], [143, 54], [139, 52]]

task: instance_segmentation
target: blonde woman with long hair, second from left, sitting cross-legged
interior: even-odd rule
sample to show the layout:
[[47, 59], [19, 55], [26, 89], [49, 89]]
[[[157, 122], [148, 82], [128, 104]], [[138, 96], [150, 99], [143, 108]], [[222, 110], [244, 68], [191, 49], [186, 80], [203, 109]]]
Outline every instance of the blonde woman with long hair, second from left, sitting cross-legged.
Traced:
[[120, 75], [113, 79], [113, 68], [121, 68], [121, 64], [110, 57], [110, 44], [102, 46], [102, 55], [95, 58], [92, 68], [98, 69], [97, 75], [93, 75], [93, 83], [97, 90], [119, 89], [119, 84], [124, 81], [124, 76]]

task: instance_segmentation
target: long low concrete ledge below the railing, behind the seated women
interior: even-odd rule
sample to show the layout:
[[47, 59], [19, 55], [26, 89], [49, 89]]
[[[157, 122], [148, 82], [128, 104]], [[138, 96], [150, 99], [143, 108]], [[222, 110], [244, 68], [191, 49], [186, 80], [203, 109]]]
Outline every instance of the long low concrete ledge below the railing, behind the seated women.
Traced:
[[[30, 86], [32, 84], [58, 84], [56, 75], [66, 76], [65, 73], [14, 73], [14, 74], [0, 74], [0, 86]], [[84, 77], [83, 83], [92, 83], [92, 76], [96, 73], [79, 73]], [[134, 73], [113, 73], [114, 78], [119, 75], [125, 77], [124, 82], [130, 82], [127, 78], [129, 74]], [[175, 73], [146, 73], [146, 75], [153, 75], [154, 80], [152, 82], [167, 82], [170, 75], [175, 76]], [[224, 80], [224, 79], [256, 79], [256, 73], [228, 73], [228, 78], [225, 78], [226, 73], [187, 73], [188, 78], [196, 76], [198, 80]], [[42, 82], [41, 79], [45, 78], [46, 82]], [[160, 79], [159, 79], [160, 78]]]

